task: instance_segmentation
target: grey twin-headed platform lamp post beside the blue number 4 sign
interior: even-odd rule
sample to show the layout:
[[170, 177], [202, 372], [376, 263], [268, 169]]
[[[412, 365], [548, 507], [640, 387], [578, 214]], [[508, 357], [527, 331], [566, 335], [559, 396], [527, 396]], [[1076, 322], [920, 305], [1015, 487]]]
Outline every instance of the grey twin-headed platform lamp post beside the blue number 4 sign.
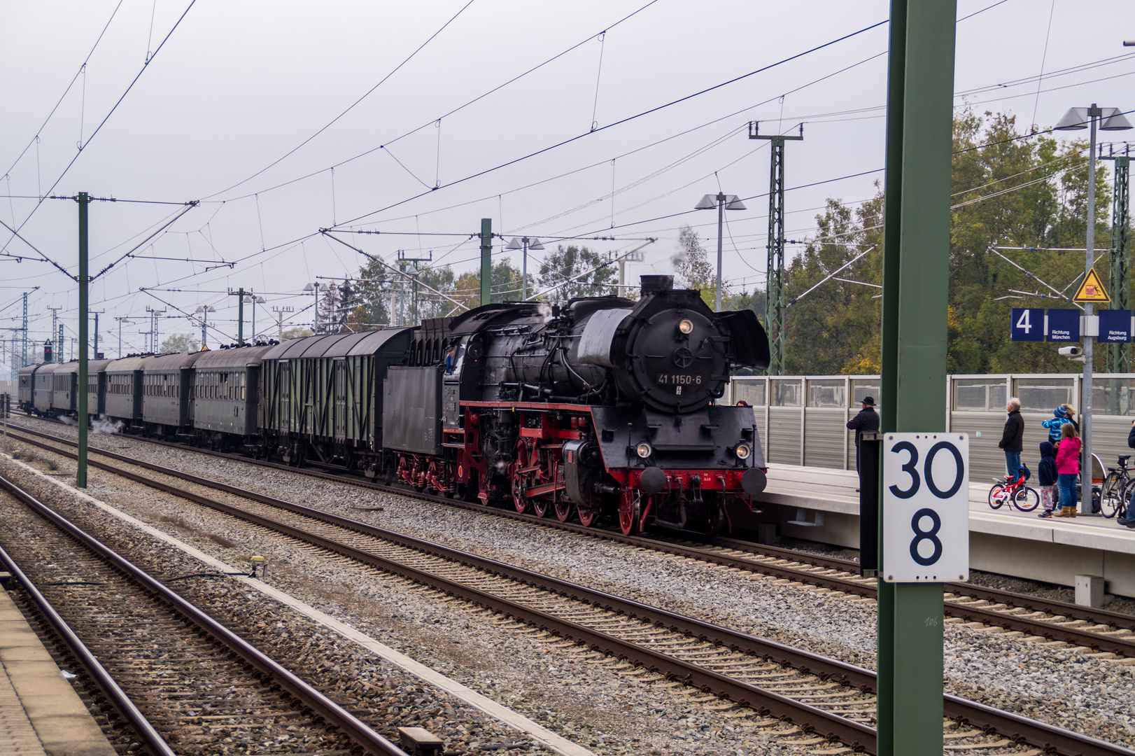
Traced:
[[[1100, 108], [1094, 102], [1091, 108], [1070, 108], [1065, 114], [1060, 123], [1056, 125], [1057, 131], [1075, 132], [1091, 128], [1087, 149], [1087, 233], [1085, 240], [1084, 257], [1084, 280], [1095, 262], [1095, 129], [1096, 127], [1108, 132], [1116, 132], [1130, 128], [1132, 125], [1124, 118], [1119, 108]], [[1092, 304], [1084, 304], [1084, 322], [1090, 322], [1092, 318]], [[1084, 380], [1081, 395], [1081, 427], [1083, 429], [1083, 448], [1081, 451], [1081, 509], [1084, 512], [1092, 511], [1092, 358], [1094, 356], [1093, 337], [1084, 335]]]

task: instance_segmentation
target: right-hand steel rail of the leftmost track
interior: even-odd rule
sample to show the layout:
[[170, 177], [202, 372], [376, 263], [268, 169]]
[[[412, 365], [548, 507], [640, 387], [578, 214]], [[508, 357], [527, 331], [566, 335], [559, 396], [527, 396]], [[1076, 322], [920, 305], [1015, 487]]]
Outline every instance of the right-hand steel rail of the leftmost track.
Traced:
[[252, 665], [262, 674], [276, 680], [281, 688], [287, 690], [292, 696], [295, 696], [295, 698], [302, 702], [304, 706], [313, 712], [317, 712], [323, 717], [325, 721], [338, 728], [340, 732], [347, 736], [352, 742], [361, 747], [367, 754], [372, 754], [373, 756], [407, 756], [404, 750], [371, 730], [361, 720], [321, 694], [311, 684], [271, 660], [255, 646], [245, 641], [235, 632], [199, 610], [192, 603], [167, 588], [163, 583], [151, 577], [144, 570], [117, 554], [114, 549], [109, 548], [93, 536], [83, 531], [78, 528], [78, 526], [74, 524], [3, 476], [0, 476], [0, 486], [7, 488], [14, 496], [27, 504], [31, 509], [39, 512], [58, 528], [69, 534], [81, 544], [99, 554], [107, 562], [121, 570], [134, 580], [137, 580], [148, 590], [151, 590], [161, 597], [186, 620], [208, 632], [211, 637], [216, 638], [246, 664]]

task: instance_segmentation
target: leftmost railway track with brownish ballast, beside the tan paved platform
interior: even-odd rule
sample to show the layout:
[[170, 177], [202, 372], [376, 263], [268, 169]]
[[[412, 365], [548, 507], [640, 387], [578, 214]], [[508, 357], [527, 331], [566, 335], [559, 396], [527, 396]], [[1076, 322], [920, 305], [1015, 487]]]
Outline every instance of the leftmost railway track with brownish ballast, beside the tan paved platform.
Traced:
[[226, 753], [271, 744], [328, 756], [405, 756], [51, 507], [5, 478], [0, 486], [10, 504], [0, 521], [0, 561], [61, 658], [82, 671], [89, 698], [116, 713], [108, 729], [121, 750], [213, 754], [224, 741]]

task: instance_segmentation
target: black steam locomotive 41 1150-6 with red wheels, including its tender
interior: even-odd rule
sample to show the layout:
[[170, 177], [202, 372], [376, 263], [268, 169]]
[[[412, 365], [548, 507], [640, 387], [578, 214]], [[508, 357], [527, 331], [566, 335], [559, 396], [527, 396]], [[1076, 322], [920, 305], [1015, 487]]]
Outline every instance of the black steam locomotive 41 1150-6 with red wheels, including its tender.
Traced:
[[715, 400], [732, 367], [768, 366], [768, 338], [753, 311], [714, 312], [671, 276], [644, 276], [641, 292], [423, 324], [445, 363], [385, 381], [397, 478], [583, 524], [617, 515], [625, 534], [729, 530], [765, 461], [753, 411]]

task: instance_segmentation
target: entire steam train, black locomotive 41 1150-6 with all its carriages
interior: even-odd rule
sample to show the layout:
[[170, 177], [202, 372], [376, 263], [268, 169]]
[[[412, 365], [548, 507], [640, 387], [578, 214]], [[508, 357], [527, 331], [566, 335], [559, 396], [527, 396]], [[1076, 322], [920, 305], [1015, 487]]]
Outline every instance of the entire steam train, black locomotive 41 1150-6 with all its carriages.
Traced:
[[[766, 482], [753, 411], [715, 400], [732, 367], [767, 367], [767, 336], [751, 311], [713, 312], [671, 276], [644, 276], [638, 301], [504, 302], [418, 328], [91, 364], [92, 409], [129, 430], [563, 521], [617, 518], [625, 534], [728, 531], [729, 507], [751, 510]], [[39, 387], [40, 370], [62, 386], [77, 363], [24, 368], [25, 411], [74, 414], [74, 380], [66, 403], [45, 411], [37, 388], [25, 405], [24, 373]], [[106, 396], [123, 373], [140, 375], [140, 412]]]

